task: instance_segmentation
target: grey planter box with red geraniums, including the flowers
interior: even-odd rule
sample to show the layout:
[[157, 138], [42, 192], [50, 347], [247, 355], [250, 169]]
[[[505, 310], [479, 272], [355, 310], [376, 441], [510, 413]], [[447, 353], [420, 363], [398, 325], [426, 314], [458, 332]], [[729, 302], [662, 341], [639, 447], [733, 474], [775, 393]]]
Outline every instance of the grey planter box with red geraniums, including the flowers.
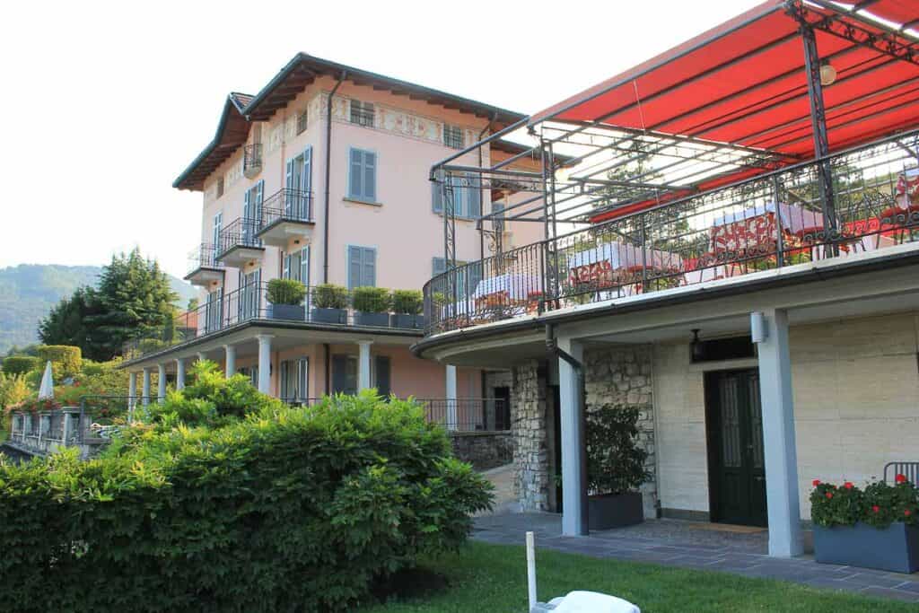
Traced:
[[919, 571], [919, 490], [902, 474], [865, 489], [813, 482], [811, 521], [817, 562]]

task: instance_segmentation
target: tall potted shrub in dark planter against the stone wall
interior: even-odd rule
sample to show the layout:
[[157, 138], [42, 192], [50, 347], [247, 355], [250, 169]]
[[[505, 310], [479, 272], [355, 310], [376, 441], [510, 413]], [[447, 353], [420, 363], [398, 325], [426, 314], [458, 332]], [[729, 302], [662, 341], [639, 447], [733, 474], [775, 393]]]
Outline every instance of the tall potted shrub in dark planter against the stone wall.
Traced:
[[648, 453], [636, 444], [639, 410], [604, 404], [587, 414], [588, 527], [605, 530], [640, 524], [644, 520], [638, 487], [650, 474]]

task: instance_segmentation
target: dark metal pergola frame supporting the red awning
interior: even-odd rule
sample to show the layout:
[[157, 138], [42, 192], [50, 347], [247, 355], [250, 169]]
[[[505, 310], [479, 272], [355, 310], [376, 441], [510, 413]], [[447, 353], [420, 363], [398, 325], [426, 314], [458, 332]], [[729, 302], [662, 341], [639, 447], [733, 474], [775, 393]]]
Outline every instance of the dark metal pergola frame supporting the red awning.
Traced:
[[[704, 124], [700, 124], [705, 125], [706, 130], [711, 130], [712, 125], [720, 127], [735, 124], [754, 114], [789, 104], [789, 101], [799, 101], [803, 96], [807, 96], [810, 107], [809, 117], [794, 117], [780, 125], [769, 126], [765, 131], [761, 131], [761, 134], [754, 131], [749, 135], [754, 137], [768, 135], [770, 139], [782, 139], [777, 145], [759, 148], [717, 142], [698, 137], [693, 131], [671, 134], [659, 130], [663, 124], [650, 124], [638, 130], [605, 123], [606, 119], [629, 108], [637, 108], [641, 112], [642, 103], [647, 103], [653, 97], [666, 96], [673, 87], [664, 88], [643, 100], [638, 98], [626, 107], [605, 111], [589, 121], [561, 118], [563, 113], [574, 106], [583, 104], [591, 97], [601, 96], [605, 91], [614, 87], [625, 85], [628, 79], [609, 85], [605, 90], [595, 92], [588, 98], [578, 99], [576, 102], [555, 109], [548, 116], [521, 119], [504, 130], [497, 131], [482, 141], [453, 153], [431, 168], [429, 178], [439, 184], [444, 205], [446, 266], [456, 267], [457, 262], [457, 211], [454, 206], [455, 194], [453, 193], [457, 186], [478, 189], [482, 196], [490, 194], [492, 190], [524, 194], [522, 198], [518, 196], [513, 204], [499, 211], [484, 210], [483, 207], [482, 214], [477, 220], [477, 229], [481, 233], [480, 244], [482, 245], [482, 259], [484, 259], [486, 237], [491, 251], [498, 255], [502, 253], [499, 229], [503, 230], [504, 223], [508, 221], [541, 223], [544, 238], [548, 240], [559, 235], [560, 224], [564, 224], [566, 228], [581, 227], [590, 224], [597, 214], [607, 211], [614, 211], [617, 216], [619, 214], [628, 216], [632, 214], [630, 208], [638, 211], [641, 210], [641, 207], [659, 206], [668, 201], [698, 193], [701, 189], [700, 184], [704, 182], [710, 183], [723, 178], [727, 183], [732, 183], [733, 178], [740, 180], [744, 176], [756, 176], [811, 159], [826, 158], [831, 153], [827, 136], [827, 112], [845, 108], [852, 105], [854, 101], [846, 101], [834, 108], [825, 108], [823, 85], [820, 78], [822, 62], [844, 58], [858, 49], [868, 48], [876, 52], [867, 60], [855, 64], [860, 69], [859, 72], [842, 76], [839, 80], [842, 83], [845, 82], [845, 79], [857, 78], [879, 70], [891, 62], [911, 62], [919, 65], [919, 40], [906, 36], [903, 31], [906, 26], [897, 30], [874, 20], [866, 20], [857, 13], [862, 8], [861, 6], [848, 10], [826, 0], [807, 0], [807, 3], [824, 9], [824, 12], [829, 11], [830, 14], [818, 13], [820, 18], [813, 20], [814, 13], [804, 0], [787, 0], [781, 9], [798, 22], [799, 28], [796, 34], [772, 40], [752, 51], [733, 57], [729, 61], [720, 62], [688, 80], [697, 80], [707, 74], [713, 74], [715, 71], [743, 62], [758, 53], [768, 51], [778, 44], [789, 42], [796, 37], [800, 38], [807, 82], [806, 91], [799, 92], [792, 88], [783, 96], [779, 96], [780, 99], [770, 102], [766, 107], [751, 109], [740, 115], [734, 112], [735, 109], [731, 109], [721, 117], [706, 119]], [[719, 37], [726, 36], [749, 23], [751, 23], [750, 20], [735, 23], [733, 28], [721, 31]], [[872, 32], [868, 28], [873, 28], [875, 31]], [[821, 58], [815, 43], [816, 30], [854, 44]], [[706, 41], [706, 44], [708, 42], [710, 40]], [[681, 54], [669, 58], [668, 61], [675, 61], [681, 55], [694, 49], [695, 47], [684, 50]], [[657, 67], [658, 65], [652, 65], [645, 72]], [[797, 71], [775, 75], [757, 84], [756, 87], [778, 83], [795, 72]], [[630, 75], [630, 79], [635, 78], [637, 75]], [[680, 85], [685, 84], [686, 82]], [[879, 88], [873, 91], [871, 96], [895, 95], [902, 92], [904, 86], [912, 85], [919, 90], [919, 77], [905, 84]], [[747, 92], [735, 92], [728, 96], [721, 96], [702, 107], [692, 108], [675, 118], [666, 119], [665, 123], [688, 117], [691, 113], [697, 113], [699, 108], [713, 108], [717, 104], [743, 96], [745, 93]], [[875, 101], [874, 104], [890, 99], [892, 98], [883, 98]], [[882, 112], [889, 110], [888, 108]], [[863, 117], [852, 121], [865, 119]], [[802, 132], [802, 122], [810, 124], [810, 133]], [[851, 122], [837, 125], [835, 128], [846, 125], [851, 125]], [[460, 158], [469, 153], [478, 153], [478, 159], [486, 159], [490, 143], [508, 137], [517, 141], [528, 141], [529, 148], [493, 165], [476, 166], [460, 163]], [[780, 151], [782, 146], [801, 142], [805, 138], [813, 142], [812, 157]], [[560, 162], [562, 156], [565, 159], [564, 165]], [[514, 167], [517, 162], [528, 158], [538, 161], [539, 172]], [[562, 174], [560, 172], [562, 166], [569, 172]], [[821, 165], [819, 175], [823, 215], [825, 219], [834, 221], [834, 186], [829, 162]], [[491, 199], [482, 198], [483, 204], [489, 201]], [[487, 222], [491, 222], [491, 228], [488, 227]]]

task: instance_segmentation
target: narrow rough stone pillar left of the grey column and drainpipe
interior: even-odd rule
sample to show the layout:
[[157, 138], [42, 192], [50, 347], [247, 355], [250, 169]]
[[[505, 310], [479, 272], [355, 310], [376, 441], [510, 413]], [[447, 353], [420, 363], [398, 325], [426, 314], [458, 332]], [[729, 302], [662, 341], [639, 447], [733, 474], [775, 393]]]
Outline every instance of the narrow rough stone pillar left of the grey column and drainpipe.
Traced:
[[514, 369], [511, 435], [514, 439], [514, 494], [522, 511], [549, 510], [549, 450], [546, 381], [539, 362]]

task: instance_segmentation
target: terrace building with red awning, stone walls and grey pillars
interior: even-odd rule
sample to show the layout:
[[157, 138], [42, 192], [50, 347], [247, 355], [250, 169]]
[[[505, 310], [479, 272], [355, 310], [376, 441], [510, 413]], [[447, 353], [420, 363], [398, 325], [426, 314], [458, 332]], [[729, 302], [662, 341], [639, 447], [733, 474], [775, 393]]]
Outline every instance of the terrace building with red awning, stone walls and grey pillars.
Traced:
[[432, 278], [414, 353], [512, 365], [524, 509], [584, 534], [603, 405], [639, 411], [646, 517], [767, 526], [776, 556], [801, 552], [813, 480], [919, 460], [919, 65], [889, 46], [914, 44], [907, 13], [769, 0], [509, 128], [570, 155], [479, 169], [532, 182], [509, 210], [545, 235], [466, 265], [488, 271], [474, 301], [444, 295], [462, 266]]

